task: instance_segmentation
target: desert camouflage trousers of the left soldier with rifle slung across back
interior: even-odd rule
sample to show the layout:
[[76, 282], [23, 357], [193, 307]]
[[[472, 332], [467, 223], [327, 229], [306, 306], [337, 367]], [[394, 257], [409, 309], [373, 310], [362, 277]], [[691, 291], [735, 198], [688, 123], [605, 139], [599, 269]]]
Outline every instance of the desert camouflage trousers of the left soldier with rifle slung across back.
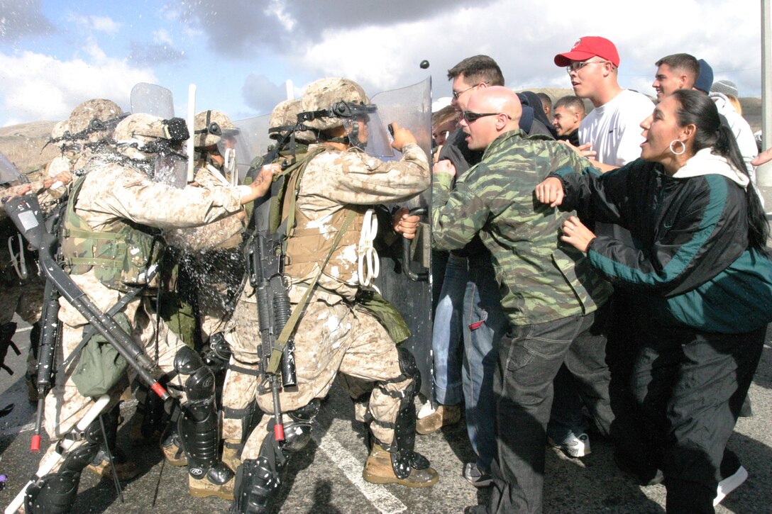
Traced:
[[[104, 286], [93, 276], [92, 272], [72, 276], [72, 279], [103, 312], [110, 309], [124, 295], [120, 291]], [[86, 327], [86, 319], [80, 315], [75, 307], [69, 305], [66, 299], [60, 298], [59, 304], [61, 305], [59, 321], [62, 322], [62, 342], [59, 346], [56, 362], [62, 363], [80, 343], [83, 329]], [[126, 314], [132, 326], [133, 332], [130, 335], [133, 336], [134, 342], [144, 349], [147, 357], [157, 362], [158, 369], [155, 376], [160, 377], [161, 374], [168, 374], [172, 377], [168, 383], [169, 394], [178, 397], [182, 403], [185, 403], [184, 377], [174, 371], [174, 357], [178, 350], [185, 347], [185, 343], [171, 330], [168, 330], [164, 320], [157, 322], [151, 308], [151, 299], [135, 298], [124, 307], [122, 312]], [[71, 374], [76, 369], [77, 363], [78, 358], [76, 357], [69, 364], [63, 376], [56, 377], [56, 386], [46, 396], [45, 426], [52, 441], [46, 455], [54, 451], [56, 441], [63, 438], [93, 405], [93, 399], [83, 397], [73, 383]], [[131, 368], [129, 368], [124, 383], [113, 387], [113, 391], [110, 393], [111, 401], [105, 411], [117, 404], [120, 394], [130, 383], [130, 379], [133, 378], [130, 375], [134, 375]]]

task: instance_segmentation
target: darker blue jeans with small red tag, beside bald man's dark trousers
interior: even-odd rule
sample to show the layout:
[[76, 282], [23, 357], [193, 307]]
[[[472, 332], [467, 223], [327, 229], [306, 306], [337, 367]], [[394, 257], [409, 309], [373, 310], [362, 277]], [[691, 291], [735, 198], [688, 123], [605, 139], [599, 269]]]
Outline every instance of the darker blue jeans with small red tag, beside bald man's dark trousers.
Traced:
[[477, 466], [484, 472], [490, 471], [490, 463], [496, 453], [493, 374], [496, 372], [499, 340], [508, 328], [490, 257], [470, 258], [469, 282], [464, 295], [466, 431], [477, 454]]

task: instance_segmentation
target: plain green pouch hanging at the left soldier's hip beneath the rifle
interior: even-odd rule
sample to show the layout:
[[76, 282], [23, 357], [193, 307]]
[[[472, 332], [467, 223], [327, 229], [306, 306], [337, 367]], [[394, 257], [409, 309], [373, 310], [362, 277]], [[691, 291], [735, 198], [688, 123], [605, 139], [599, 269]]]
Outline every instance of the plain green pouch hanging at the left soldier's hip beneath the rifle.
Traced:
[[[118, 313], [113, 319], [126, 333], [131, 333], [126, 314]], [[73, 383], [85, 397], [107, 394], [124, 377], [128, 366], [118, 350], [102, 334], [97, 333], [80, 351], [78, 364], [72, 374]]]

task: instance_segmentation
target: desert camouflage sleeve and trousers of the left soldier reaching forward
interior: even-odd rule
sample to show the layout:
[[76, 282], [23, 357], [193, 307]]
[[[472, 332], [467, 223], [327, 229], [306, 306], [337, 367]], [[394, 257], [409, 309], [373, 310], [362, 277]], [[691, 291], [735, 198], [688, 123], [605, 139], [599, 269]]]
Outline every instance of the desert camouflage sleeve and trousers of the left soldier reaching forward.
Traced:
[[[220, 191], [205, 188], [175, 189], [151, 181], [147, 174], [134, 167], [102, 157], [90, 161], [86, 172], [77, 195], [75, 212], [97, 233], [112, 232], [116, 223], [126, 222], [162, 230], [201, 225], [241, 208], [242, 191], [236, 188]], [[94, 269], [72, 274], [71, 278], [103, 312], [124, 295], [100, 282]], [[58, 362], [62, 362], [80, 342], [86, 320], [64, 298], [59, 299], [59, 303], [59, 320], [63, 330], [62, 355]], [[120, 313], [127, 316], [134, 340], [145, 349], [151, 360], [157, 362], [160, 370], [170, 377], [169, 392], [185, 404], [185, 381], [188, 375], [178, 373], [174, 366], [175, 356], [185, 344], [168, 330], [163, 320], [156, 320], [151, 298], [138, 296], [127, 303]], [[73, 384], [71, 374], [77, 365], [78, 359], [73, 361], [64, 377], [59, 377], [58, 384], [46, 397], [46, 431], [54, 442], [73, 428], [93, 404], [92, 398], [83, 397]], [[115, 388], [112, 404], [117, 401], [125, 385], [119, 384]], [[54, 448], [52, 444], [49, 452]]]

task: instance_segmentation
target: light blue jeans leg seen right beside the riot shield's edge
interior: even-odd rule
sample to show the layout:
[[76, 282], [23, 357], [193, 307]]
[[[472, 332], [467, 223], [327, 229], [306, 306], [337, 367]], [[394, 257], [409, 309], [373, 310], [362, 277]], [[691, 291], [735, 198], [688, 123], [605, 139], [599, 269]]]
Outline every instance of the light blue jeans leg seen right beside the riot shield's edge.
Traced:
[[449, 255], [432, 326], [435, 400], [461, 403], [461, 313], [466, 289], [466, 258]]

